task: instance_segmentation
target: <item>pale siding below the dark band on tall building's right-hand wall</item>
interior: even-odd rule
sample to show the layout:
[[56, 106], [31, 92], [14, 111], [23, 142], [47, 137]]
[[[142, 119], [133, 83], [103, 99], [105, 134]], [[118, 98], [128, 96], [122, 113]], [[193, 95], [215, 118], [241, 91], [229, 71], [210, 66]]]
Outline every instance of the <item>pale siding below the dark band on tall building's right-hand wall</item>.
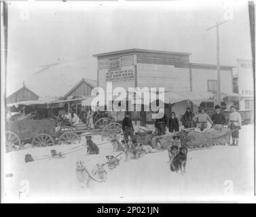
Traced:
[[190, 91], [189, 68], [138, 63], [137, 71], [138, 87], [164, 87], [165, 91]]

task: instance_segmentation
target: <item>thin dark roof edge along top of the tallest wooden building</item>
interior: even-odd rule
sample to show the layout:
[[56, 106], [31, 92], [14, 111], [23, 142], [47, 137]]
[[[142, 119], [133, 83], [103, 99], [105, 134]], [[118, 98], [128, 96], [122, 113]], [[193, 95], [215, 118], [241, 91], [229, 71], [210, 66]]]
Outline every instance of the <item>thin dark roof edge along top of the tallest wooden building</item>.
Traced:
[[93, 57], [101, 57], [101, 56], [111, 56], [115, 54], [124, 54], [124, 53], [130, 53], [130, 52], [144, 52], [144, 53], [159, 53], [159, 54], [177, 54], [177, 55], [191, 55], [190, 53], [183, 53], [183, 52], [166, 52], [162, 50], [145, 50], [145, 49], [137, 49], [137, 48], [132, 48], [128, 50], [118, 50], [115, 52], [107, 52], [107, 53], [102, 53], [102, 54], [94, 54], [92, 55]]

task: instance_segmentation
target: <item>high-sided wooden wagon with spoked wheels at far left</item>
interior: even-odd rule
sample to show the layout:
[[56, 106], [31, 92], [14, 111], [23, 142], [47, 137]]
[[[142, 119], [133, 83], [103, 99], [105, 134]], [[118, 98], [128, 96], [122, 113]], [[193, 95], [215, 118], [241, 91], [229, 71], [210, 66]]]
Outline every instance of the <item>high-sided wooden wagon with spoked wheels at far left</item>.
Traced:
[[77, 134], [69, 130], [65, 131], [65, 128], [56, 130], [56, 122], [56, 119], [7, 121], [5, 132], [7, 151], [19, 150], [22, 144], [26, 143], [39, 147], [69, 144], [80, 140]]

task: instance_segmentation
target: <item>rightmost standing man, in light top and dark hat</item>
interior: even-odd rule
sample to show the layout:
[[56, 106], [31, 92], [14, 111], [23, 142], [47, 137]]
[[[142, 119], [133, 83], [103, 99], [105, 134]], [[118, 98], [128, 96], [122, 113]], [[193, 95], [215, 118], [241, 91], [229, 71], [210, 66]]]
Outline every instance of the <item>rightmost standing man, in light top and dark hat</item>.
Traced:
[[234, 106], [230, 107], [232, 113], [230, 113], [230, 119], [228, 121], [228, 126], [230, 130], [234, 130], [232, 132], [232, 145], [238, 145], [238, 138], [239, 138], [239, 130], [241, 129], [242, 125], [242, 118], [241, 115], [236, 111]]

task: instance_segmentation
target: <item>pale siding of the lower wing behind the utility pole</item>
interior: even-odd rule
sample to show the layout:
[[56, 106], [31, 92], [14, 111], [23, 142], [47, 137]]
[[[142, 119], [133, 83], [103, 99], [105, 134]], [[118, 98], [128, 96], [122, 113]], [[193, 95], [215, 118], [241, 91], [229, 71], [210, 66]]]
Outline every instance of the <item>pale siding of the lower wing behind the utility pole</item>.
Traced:
[[[193, 91], [207, 92], [208, 80], [217, 80], [217, 71], [214, 69], [191, 68]], [[232, 70], [221, 70], [221, 92], [231, 94], [232, 86]]]

